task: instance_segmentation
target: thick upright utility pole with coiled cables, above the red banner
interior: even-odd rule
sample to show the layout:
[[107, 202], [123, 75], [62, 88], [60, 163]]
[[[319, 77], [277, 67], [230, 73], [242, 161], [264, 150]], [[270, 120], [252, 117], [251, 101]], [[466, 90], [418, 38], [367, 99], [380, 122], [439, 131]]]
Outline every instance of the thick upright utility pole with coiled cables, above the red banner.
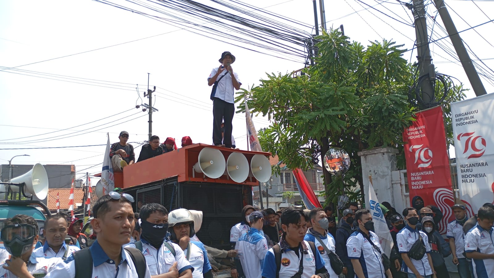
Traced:
[[[434, 76], [434, 65], [431, 65], [431, 53], [429, 49], [429, 36], [427, 35], [427, 22], [425, 20], [425, 5], [423, 0], [412, 1], [412, 13], [415, 19], [415, 34], [417, 38], [417, 60], [419, 76]], [[431, 72], [432, 71], [432, 72]], [[434, 89], [430, 84], [432, 78], [426, 78], [420, 84], [422, 100], [431, 103], [435, 100]]]

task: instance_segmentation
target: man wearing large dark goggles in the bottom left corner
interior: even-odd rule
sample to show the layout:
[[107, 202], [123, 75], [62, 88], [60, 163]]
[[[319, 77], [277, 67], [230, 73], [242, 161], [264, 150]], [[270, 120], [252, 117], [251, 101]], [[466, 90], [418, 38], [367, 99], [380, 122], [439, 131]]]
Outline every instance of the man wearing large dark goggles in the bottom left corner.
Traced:
[[69, 271], [60, 258], [37, 258], [33, 249], [38, 242], [38, 223], [24, 214], [18, 214], [3, 222], [1, 240], [10, 259], [0, 267], [0, 277], [43, 278], [54, 270]]

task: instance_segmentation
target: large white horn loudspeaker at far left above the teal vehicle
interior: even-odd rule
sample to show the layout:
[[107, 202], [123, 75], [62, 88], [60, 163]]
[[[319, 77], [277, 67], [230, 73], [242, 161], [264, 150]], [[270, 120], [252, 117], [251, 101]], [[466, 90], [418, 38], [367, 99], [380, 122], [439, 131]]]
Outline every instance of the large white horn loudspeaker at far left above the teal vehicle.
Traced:
[[[40, 200], [44, 200], [48, 195], [48, 175], [46, 175], [46, 170], [40, 163], [33, 166], [33, 169], [26, 174], [15, 177], [10, 182], [14, 184], [24, 183], [24, 192], [31, 193]], [[17, 189], [13, 191], [18, 191], [19, 189], [17, 185], [11, 185], [10, 188]]]

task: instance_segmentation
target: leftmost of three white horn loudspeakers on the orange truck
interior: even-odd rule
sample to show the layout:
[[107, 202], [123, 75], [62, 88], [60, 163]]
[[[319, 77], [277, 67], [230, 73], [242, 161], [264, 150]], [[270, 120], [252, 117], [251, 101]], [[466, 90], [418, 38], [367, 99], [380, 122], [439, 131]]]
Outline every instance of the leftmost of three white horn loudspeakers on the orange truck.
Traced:
[[217, 179], [225, 173], [225, 157], [219, 149], [203, 148], [199, 152], [197, 163], [194, 165], [194, 171], [203, 173], [208, 178]]

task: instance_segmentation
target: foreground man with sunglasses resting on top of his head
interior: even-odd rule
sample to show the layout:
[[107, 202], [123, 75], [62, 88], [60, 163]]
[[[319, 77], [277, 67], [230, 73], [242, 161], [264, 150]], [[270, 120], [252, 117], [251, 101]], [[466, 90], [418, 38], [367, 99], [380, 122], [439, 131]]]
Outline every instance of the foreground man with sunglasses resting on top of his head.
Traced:
[[142, 253], [135, 248], [123, 248], [130, 242], [135, 225], [132, 202], [131, 195], [116, 191], [99, 198], [91, 221], [98, 234], [96, 241], [67, 259], [69, 272], [57, 268], [50, 277], [151, 278]]

